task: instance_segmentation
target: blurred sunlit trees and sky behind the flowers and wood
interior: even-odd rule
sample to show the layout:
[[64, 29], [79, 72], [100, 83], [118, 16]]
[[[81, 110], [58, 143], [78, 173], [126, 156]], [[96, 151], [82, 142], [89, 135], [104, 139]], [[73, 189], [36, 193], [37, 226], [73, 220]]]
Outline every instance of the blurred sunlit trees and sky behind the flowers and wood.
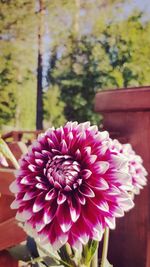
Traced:
[[98, 123], [98, 90], [150, 85], [149, 0], [1, 0], [0, 131]]

